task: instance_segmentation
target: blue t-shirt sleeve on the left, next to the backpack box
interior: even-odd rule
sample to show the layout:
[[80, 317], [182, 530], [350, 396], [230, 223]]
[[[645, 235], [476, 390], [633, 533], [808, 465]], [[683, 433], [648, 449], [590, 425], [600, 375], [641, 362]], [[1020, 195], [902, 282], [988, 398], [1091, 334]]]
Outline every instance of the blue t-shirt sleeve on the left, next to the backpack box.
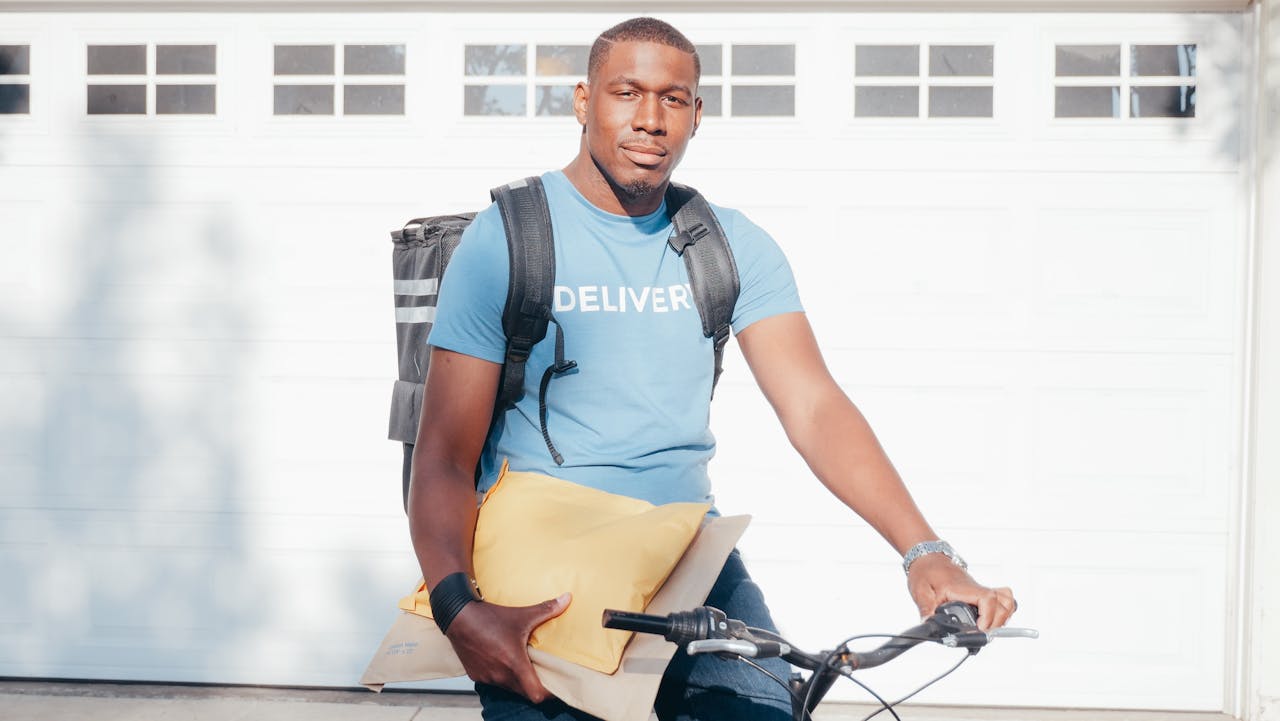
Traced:
[[502, 311], [507, 305], [509, 268], [502, 215], [492, 205], [467, 225], [449, 259], [426, 342], [436, 348], [502, 362], [507, 353]]

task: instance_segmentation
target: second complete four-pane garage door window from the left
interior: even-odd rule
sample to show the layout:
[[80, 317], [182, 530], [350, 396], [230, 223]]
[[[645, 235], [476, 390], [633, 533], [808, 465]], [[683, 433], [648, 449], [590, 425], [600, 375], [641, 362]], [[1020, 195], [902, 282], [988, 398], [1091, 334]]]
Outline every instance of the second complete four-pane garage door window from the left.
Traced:
[[276, 45], [273, 104], [276, 115], [403, 115], [404, 45]]

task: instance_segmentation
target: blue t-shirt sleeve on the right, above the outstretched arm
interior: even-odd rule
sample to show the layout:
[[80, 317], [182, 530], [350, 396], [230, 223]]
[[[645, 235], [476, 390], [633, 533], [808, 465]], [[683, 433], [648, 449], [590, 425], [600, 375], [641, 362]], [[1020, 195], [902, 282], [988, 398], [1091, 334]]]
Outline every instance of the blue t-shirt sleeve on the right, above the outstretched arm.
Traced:
[[740, 292], [733, 306], [733, 332], [773, 315], [803, 311], [791, 264], [777, 241], [735, 210], [716, 209], [737, 265]]

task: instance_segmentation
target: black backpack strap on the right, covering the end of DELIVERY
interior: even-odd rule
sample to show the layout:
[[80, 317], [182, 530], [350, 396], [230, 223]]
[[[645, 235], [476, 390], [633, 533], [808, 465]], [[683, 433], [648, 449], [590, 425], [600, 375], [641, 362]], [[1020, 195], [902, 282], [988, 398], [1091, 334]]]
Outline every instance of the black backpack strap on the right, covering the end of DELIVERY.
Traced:
[[724, 369], [724, 346], [728, 343], [733, 306], [737, 305], [737, 264], [733, 263], [724, 228], [701, 193], [689, 186], [669, 183], [667, 210], [675, 225], [667, 242], [685, 259], [689, 287], [703, 320], [703, 334], [712, 338], [716, 348], [714, 396]]

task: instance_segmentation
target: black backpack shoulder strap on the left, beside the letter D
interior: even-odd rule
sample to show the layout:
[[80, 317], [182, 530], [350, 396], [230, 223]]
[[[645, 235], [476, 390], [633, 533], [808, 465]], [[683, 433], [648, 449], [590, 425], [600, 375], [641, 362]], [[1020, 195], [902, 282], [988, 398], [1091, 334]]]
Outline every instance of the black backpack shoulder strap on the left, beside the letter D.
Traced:
[[547, 337], [556, 283], [556, 252], [541, 179], [531, 177], [498, 186], [489, 195], [502, 211], [511, 257], [511, 282], [502, 312], [507, 357], [502, 364], [495, 409], [500, 412], [520, 398], [529, 352]]

